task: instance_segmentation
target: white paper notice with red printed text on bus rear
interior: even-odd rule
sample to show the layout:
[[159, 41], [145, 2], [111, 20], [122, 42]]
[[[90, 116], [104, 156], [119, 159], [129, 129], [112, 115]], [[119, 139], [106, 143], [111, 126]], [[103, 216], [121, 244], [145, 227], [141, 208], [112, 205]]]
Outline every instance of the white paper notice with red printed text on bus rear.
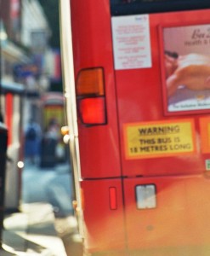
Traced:
[[151, 67], [149, 15], [112, 17], [115, 69]]

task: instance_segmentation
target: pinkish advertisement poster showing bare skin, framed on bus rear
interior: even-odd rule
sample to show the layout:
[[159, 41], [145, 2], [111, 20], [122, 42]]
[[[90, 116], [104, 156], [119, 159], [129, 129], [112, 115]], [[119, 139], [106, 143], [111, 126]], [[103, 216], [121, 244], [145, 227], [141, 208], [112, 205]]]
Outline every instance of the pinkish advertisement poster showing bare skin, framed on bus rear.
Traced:
[[167, 112], [210, 109], [210, 24], [162, 32]]

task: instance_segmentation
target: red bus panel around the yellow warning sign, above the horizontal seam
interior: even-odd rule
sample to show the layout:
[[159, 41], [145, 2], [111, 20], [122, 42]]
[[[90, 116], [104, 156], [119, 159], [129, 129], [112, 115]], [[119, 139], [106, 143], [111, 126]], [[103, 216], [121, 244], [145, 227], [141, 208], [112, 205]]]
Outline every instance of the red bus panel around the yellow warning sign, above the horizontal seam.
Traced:
[[[121, 141], [123, 139], [123, 125], [170, 119], [192, 118], [199, 134], [199, 118], [201, 115], [182, 114], [167, 117], [164, 114], [162, 93], [162, 38], [158, 26], [188, 26], [190, 24], [209, 23], [209, 11], [191, 11], [180, 13], [166, 13], [150, 15], [150, 44], [152, 67], [116, 71], [117, 102], [119, 109], [119, 125]], [[196, 143], [201, 143], [196, 137]], [[202, 173], [205, 169], [205, 155], [197, 151], [196, 154], [186, 154], [172, 157], [158, 157], [149, 159], [126, 160], [126, 145], [122, 145], [123, 175], [183, 175]]]

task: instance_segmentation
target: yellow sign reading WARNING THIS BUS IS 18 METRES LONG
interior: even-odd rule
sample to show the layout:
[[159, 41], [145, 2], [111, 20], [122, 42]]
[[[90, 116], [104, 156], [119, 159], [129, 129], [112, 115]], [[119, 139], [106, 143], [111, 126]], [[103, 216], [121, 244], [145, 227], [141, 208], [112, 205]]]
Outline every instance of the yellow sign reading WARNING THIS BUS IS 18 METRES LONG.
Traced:
[[193, 119], [124, 125], [127, 159], [194, 154], [195, 140]]

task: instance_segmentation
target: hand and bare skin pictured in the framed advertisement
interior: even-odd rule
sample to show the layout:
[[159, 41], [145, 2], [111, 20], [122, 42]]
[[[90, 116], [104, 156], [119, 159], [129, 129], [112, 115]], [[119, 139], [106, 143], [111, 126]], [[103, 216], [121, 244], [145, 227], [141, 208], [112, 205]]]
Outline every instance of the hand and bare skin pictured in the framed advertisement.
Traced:
[[210, 57], [200, 54], [165, 53], [167, 96], [173, 96], [179, 86], [190, 90], [210, 89]]

